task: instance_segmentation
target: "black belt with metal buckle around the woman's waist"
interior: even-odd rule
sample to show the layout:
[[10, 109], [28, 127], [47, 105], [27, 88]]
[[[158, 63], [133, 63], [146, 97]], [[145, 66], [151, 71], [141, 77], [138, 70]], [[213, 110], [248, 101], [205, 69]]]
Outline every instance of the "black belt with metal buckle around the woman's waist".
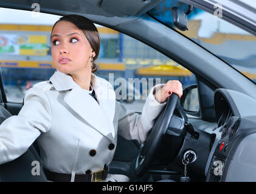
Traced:
[[[51, 172], [44, 169], [44, 173], [48, 181], [54, 182], [71, 182], [71, 174]], [[108, 177], [108, 166], [103, 170], [99, 170], [94, 173], [75, 175], [75, 182], [99, 182], [103, 181]]]

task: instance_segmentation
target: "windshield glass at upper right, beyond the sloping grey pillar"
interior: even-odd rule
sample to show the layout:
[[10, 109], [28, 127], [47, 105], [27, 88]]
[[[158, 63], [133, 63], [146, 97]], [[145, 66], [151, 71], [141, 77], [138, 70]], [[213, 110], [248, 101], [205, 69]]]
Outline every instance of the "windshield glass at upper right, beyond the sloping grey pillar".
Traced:
[[[256, 2], [253, 5], [256, 6]], [[184, 11], [188, 8], [183, 2], [168, 0], [149, 13], [153, 18], [223, 59], [256, 83], [256, 36], [224, 21], [221, 17], [195, 7], [187, 16], [189, 30], [181, 31], [173, 24], [173, 7], [182, 8]]]

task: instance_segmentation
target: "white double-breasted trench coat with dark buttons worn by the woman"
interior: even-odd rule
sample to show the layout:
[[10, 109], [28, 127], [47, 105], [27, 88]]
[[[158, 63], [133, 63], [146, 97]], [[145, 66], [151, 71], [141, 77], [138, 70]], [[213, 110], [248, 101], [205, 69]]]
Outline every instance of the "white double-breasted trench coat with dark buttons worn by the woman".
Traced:
[[91, 83], [98, 102], [70, 75], [58, 71], [49, 81], [34, 85], [19, 114], [0, 125], [0, 164], [21, 156], [38, 138], [43, 167], [72, 174], [74, 179], [75, 174], [101, 170], [112, 161], [117, 133], [143, 143], [166, 103], [157, 102], [153, 95], [163, 84], [151, 89], [138, 115], [116, 101], [108, 81], [92, 73]]

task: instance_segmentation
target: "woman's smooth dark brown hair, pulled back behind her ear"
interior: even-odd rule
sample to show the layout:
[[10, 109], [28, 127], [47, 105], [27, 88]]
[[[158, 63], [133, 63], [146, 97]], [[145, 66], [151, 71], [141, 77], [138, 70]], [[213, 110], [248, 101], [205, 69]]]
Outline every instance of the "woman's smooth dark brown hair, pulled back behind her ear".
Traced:
[[[52, 30], [54, 30], [55, 25], [60, 21], [68, 21], [77, 26], [88, 39], [89, 44], [91, 45], [92, 50], [95, 52], [95, 56], [92, 62], [92, 73], [97, 72], [97, 64], [95, 64], [95, 60], [98, 58], [100, 53], [100, 35], [95, 27], [94, 23], [91, 22], [88, 18], [80, 15], [66, 15], [60, 18], [57, 22], [55, 22]], [[52, 32], [50, 33], [50, 39], [52, 39]]]

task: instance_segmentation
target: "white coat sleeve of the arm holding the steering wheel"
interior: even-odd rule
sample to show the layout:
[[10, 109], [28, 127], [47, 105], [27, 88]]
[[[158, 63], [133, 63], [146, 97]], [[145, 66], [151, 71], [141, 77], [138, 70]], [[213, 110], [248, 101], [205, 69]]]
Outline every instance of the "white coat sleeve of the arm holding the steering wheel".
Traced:
[[125, 105], [117, 101], [118, 133], [125, 139], [137, 139], [141, 144], [147, 139], [148, 132], [152, 129], [154, 121], [166, 104], [159, 103], [154, 98], [164, 84], [155, 85], [145, 101], [142, 114], [126, 109]]

